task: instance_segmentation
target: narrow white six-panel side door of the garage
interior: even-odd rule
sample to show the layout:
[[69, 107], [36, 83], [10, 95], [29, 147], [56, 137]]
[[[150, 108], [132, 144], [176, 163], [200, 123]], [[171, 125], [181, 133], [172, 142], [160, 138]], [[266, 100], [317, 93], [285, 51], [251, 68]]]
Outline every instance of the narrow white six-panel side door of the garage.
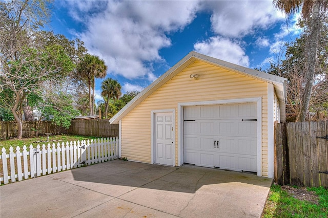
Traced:
[[155, 113], [155, 163], [174, 166], [173, 113]]

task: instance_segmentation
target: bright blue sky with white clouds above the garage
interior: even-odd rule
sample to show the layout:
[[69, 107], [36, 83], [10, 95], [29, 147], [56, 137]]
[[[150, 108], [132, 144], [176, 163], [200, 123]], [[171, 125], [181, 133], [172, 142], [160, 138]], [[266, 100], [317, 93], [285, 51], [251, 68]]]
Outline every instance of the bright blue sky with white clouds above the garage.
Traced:
[[55, 1], [49, 28], [83, 40], [126, 93], [146, 88], [190, 51], [265, 69], [300, 34], [296, 21], [272, 1]]

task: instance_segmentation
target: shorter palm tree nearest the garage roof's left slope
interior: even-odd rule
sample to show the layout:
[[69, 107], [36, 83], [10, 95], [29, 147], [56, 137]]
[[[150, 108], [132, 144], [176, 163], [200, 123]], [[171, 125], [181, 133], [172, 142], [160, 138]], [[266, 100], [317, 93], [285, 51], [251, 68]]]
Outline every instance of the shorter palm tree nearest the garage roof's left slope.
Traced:
[[105, 117], [107, 116], [109, 100], [118, 99], [121, 96], [121, 85], [116, 79], [108, 78], [101, 83], [101, 95], [104, 96], [106, 106], [105, 106]]

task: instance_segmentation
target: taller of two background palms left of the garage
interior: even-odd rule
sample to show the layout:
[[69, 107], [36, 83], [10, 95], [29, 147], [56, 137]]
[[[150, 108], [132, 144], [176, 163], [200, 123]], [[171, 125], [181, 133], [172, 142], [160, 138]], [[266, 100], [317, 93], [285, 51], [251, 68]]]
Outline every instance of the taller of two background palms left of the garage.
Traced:
[[77, 71], [88, 83], [90, 115], [94, 115], [95, 78], [105, 78], [107, 66], [98, 56], [86, 54], [79, 62]]

